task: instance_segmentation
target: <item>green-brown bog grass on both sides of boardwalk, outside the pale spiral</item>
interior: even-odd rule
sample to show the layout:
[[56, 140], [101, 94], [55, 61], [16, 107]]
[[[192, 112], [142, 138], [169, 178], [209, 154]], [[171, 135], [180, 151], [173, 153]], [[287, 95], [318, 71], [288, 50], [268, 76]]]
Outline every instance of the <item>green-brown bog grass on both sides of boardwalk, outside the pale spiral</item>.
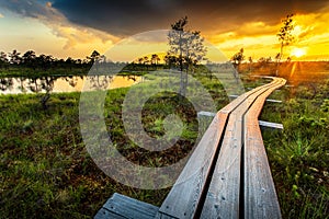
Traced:
[[[247, 74], [242, 78], [246, 89], [261, 82]], [[228, 103], [218, 81], [198, 79], [217, 110]], [[266, 104], [261, 115], [285, 127], [283, 132], [263, 132], [284, 218], [329, 215], [329, 84], [315, 83], [316, 93], [313, 87], [275, 92], [271, 97], [284, 103]], [[127, 91], [109, 91], [104, 105], [105, 124], [111, 127], [107, 131], [121, 153], [146, 166], [162, 166], [183, 158], [197, 137], [196, 112], [191, 104], [173, 93], [161, 93], [147, 102], [143, 122], [148, 135], [163, 136], [163, 120], [172, 113], [184, 124], [175, 147], [148, 152], [131, 142], [124, 131], [121, 118]], [[41, 95], [0, 96], [0, 218], [91, 218], [114, 192], [154, 205], [162, 203], [170, 188], [127, 187], [93, 163], [81, 138], [79, 93], [52, 94], [47, 110], [39, 104]]]

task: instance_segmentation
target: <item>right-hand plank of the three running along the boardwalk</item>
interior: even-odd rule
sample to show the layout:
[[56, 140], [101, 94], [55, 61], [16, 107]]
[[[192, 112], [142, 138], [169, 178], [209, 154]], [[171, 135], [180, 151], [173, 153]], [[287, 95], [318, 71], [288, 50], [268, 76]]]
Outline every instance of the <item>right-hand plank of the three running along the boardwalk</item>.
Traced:
[[281, 218], [273, 178], [262, 141], [258, 117], [265, 97], [285, 80], [263, 93], [245, 115], [243, 216], [245, 218]]

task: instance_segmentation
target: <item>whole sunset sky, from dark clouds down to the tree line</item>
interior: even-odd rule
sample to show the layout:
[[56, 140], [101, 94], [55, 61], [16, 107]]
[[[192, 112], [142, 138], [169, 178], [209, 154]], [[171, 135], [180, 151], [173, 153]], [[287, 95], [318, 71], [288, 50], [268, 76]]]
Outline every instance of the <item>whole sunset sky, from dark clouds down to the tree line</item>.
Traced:
[[[276, 33], [288, 13], [296, 14], [295, 42], [285, 57], [329, 60], [328, 0], [0, 0], [0, 51], [86, 58], [132, 35], [170, 28], [188, 15], [189, 27], [227, 57], [243, 47], [246, 57], [257, 60], [280, 51]], [[159, 43], [156, 37], [143, 42]], [[117, 51], [118, 57], [126, 53]]]

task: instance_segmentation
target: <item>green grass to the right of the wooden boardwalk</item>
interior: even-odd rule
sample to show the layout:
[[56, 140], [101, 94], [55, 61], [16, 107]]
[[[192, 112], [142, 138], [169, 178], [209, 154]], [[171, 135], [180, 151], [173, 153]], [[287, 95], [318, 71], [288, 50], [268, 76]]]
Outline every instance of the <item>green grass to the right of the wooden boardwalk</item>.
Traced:
[[329, 218], [329, 81], [281, 89], [261, 119], [282, 123], [283, 131], [263, 131], [284, 218]]

